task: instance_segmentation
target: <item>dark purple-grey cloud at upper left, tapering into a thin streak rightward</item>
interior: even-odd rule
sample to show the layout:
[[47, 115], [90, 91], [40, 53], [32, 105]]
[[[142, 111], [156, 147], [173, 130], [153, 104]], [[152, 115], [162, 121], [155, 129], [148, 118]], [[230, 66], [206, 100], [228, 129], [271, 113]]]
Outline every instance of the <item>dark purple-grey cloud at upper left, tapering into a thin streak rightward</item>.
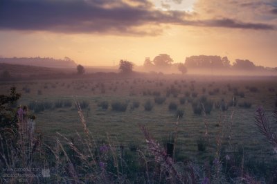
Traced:
[[[141, 26], [178, 24], [270, 30], [267, 24], [242, 23], [232, 19], [188, 21], [180, 11], [160, 11], [148, 0], [1, 0], [1, 30], [47, 30], [61, 33], [112, 33], [157, 35], [161, 28]], [[131, 4], [135, 5], [131, 5]]]

